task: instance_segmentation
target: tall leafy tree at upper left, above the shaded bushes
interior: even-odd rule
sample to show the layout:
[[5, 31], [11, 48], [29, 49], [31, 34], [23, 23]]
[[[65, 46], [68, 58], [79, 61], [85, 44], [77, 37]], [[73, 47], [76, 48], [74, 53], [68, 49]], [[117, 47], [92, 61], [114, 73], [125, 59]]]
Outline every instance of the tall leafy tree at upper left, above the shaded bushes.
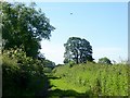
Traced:
[[40, 41], [50, 39], [54, 29], [49, 19], [41, 9], [35, 9], [35, 3], [27, 7], [17, 2], [0, 2], [0, 5], [4, 49], [24, 47], [28, 57], [37, 58], [41, 49]]

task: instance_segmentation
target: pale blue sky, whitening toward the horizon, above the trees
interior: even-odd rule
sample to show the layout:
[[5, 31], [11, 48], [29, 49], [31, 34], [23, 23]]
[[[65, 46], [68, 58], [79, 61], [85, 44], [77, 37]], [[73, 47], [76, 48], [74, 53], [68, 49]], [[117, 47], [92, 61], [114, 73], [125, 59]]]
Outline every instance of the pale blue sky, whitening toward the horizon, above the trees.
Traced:
[[47, 59], [63, 63], [63, 45], [73, 36], [90, 41], [95, 61], [103, 57], [127, 59], [127, 2], [37, 2], [37, 8], [41, 8], [56, 28], [50, 40], [41, 41], [41, 52]]

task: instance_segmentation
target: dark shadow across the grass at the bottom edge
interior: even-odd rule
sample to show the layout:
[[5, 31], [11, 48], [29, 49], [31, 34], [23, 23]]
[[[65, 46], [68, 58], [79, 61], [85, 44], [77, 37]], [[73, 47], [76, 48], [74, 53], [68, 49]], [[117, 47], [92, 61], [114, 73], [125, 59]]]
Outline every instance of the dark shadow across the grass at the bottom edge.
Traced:
[[92, 91], [87, 91], [87, 93], [77, 93], [75, 90], [62, 90], [62, 89], [54, 89], [50, 90], [49, 97], [90, 97], [92, 95]]

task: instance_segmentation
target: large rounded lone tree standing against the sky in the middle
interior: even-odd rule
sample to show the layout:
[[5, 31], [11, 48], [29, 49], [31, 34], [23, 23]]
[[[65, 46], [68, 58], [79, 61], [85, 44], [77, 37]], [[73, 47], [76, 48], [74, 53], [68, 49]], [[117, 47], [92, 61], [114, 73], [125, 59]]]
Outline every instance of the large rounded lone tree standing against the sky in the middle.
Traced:
[[79, 37], [70, 37], [66, 44], [64, 44], [65, 53], [64, 53], [64, 63], [69, 61], [75, 61], [78, 63], [84, 63], [88, 61], [93, 61], [92, 58], [92, 46], [86, 39]]

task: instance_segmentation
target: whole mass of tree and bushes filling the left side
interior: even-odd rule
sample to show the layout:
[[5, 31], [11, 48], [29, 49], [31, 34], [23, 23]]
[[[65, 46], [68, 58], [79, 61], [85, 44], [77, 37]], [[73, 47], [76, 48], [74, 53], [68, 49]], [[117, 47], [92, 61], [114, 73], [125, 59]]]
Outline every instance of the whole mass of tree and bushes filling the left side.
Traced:
[[48, 89], [44, 66], [52, 62], [47, 61], [39, 49], [40, 41], [50, 39], [55, 28], [35, 5], [0, 1], [3, 96], [35, 96], [40, 88]]

